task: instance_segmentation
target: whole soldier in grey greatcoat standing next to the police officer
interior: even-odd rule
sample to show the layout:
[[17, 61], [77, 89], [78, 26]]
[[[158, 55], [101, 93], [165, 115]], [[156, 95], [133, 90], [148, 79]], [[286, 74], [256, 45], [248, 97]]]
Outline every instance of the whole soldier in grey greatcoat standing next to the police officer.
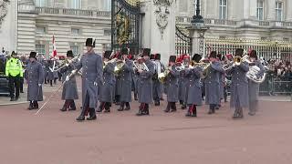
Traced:
[[44, 70], [42, 64], [36, 61], [36, 52], [29, 55], [29, 63], [26, 67], [27, 101], [29, 107], [27, 109], [38, 108], [37, 101], [43, 100], [42, 84], [44, 82]]

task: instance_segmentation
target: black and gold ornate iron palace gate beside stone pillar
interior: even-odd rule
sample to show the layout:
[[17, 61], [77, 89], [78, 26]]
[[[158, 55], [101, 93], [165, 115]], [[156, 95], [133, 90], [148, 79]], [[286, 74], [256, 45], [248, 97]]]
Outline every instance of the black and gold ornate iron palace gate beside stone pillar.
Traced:
[[129, 47], [131, 54], [139, 54], [139, 0], [111, 0], [111, 47], [114, 51]]

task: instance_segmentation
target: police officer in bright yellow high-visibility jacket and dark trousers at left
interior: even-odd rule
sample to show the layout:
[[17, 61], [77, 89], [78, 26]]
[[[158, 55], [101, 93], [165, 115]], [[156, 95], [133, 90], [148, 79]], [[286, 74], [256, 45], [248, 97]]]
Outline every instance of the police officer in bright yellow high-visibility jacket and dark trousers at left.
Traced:
[[10, 101], [16, 101], [19, 97], [20, 78], [23, 77], [22, 63], [17, 58], [15, 51], [6, 62], [5, 75], [9, 80]]

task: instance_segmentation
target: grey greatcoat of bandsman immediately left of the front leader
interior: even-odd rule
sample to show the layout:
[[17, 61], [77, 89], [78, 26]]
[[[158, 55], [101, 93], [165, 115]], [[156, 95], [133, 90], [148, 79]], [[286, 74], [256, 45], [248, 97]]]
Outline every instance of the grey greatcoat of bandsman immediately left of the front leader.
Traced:
[[[63, 67], [60, 72], [62, 73], [62, 82], [64, 83], [66, 77], [69, 76], [74, 70], [73, 64], [68, 67]], [[63, 85], [62, 99], [78, 99], [78, 89], [76, 84], [76, 77], [70, 77], [70, 80], [66, 81]]]

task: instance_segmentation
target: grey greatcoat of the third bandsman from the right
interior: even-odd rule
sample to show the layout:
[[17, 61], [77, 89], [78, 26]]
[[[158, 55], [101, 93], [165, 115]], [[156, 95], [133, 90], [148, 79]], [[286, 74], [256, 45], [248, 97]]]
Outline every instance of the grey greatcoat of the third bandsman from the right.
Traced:
[[219, 104], [220, 103], [220, 82], [219, 77], [224, 73], [224, 69], [219, 62], [214, 62], [206, 70], [204, 77], [205, 84], [205, 104]]

